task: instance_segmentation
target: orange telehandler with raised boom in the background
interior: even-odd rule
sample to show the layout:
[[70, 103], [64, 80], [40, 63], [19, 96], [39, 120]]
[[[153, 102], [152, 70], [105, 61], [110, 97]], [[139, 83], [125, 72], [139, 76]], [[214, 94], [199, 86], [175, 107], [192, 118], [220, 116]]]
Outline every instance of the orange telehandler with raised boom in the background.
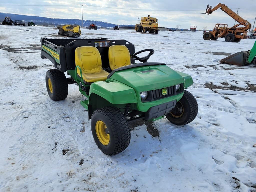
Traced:
[[[238, 14], [233, 12], [227, 5], [219, 3], [214, 8], [207, 5], [206, 11], [204, 14], [211, 14], [215, 10], [220, 8], [222, 11], [227, 13], [230, 17], [238, 22], [238, 24], [234, 25], [233, 27], [229, 27], [227, 24], [217, 23], [212, 31], [208, 31], [204, 33], [204, 40], [216, 40], [218, 38], [225, 38], [227, 42], [239, 42], [241, 39], [247, 39], [247, 31], [250, 30], [252, 27], [251, 24], [240, 17]], [[238, 27], [243, 25], [242, 27]]]

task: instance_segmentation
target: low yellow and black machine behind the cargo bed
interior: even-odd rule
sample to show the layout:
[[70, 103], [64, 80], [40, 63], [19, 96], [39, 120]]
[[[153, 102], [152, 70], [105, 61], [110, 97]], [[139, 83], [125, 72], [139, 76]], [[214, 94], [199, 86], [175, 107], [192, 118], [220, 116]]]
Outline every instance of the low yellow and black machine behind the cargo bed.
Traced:
[[80, 37], [81, 30], [80, 25], [57, 25], [59, 31], [58, 35], [66, 35], [68, 37]]

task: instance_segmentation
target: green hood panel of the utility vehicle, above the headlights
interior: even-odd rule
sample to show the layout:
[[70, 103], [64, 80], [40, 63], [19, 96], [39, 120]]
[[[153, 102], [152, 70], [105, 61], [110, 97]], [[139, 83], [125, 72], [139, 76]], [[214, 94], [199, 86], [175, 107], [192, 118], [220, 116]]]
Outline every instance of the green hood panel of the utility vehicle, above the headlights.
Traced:
[[116, 71], [110, 79], [119, 81], [137, 92], [166, 88], [184, 83], [184, 79], [166, 65], [140, 66]]

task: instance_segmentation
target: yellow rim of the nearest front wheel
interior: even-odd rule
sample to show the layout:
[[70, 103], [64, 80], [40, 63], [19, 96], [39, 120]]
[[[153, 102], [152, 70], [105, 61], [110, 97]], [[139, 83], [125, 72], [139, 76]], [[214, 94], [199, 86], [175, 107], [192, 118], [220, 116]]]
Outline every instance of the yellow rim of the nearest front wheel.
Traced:
[[103, 145], [108, 145], [110, 137], [109, 137], [108, 129], [105, 123], [103, 123], [103, 121], [97, 121], [95, 125], [95, 130], [96, 130], [96, 134], [99, 141]]

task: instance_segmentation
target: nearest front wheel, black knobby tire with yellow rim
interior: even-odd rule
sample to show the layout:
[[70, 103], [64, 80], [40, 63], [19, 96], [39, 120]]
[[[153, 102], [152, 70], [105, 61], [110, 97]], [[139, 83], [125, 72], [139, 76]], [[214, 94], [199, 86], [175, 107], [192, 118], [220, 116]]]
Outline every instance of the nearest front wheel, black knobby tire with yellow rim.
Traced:
[[130, 128], [124, 114], [113, 106], [93, 112], [91, 130], [95, 143], [106, 155], [121, 153], [131, 140]]

